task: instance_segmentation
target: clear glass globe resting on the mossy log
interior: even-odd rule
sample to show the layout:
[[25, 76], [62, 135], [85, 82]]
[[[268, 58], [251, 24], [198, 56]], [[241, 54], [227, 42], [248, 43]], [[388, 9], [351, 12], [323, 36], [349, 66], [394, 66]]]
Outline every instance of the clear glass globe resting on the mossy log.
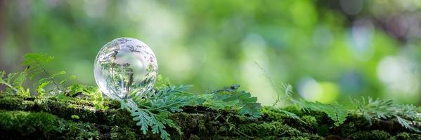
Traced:
[[148, 45], [135, 38], [116, 38], [101, 48], [93, 73], [103, 94], [112, 99], [131, 99], [150, 92], [158, 65]]

